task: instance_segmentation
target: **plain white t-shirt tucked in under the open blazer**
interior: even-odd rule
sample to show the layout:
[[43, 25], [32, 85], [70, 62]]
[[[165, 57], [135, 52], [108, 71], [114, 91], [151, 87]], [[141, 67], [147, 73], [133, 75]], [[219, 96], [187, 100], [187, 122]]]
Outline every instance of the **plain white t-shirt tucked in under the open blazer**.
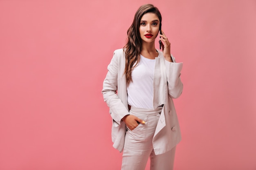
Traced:
[[155, 59], [140, 55], [139, 64], [132, 71], [128, 93], [128, 104], [137, 108], [153, 108], [153, 77]]

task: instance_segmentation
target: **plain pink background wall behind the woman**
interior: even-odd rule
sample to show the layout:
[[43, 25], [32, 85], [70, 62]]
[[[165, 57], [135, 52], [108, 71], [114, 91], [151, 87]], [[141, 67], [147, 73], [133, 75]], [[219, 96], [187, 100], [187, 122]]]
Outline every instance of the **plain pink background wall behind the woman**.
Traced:
[[175, 170], [256, 170], [256, 0], [0, 0], [0, 170], [120, 169], [102, 82], [145, 3], [184, 62]]

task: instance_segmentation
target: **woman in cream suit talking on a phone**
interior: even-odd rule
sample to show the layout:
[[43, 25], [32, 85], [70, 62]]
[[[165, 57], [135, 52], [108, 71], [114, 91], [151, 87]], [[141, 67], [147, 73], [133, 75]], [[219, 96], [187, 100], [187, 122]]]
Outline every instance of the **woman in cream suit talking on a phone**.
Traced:
[[[172, 170], [180, 126], [173, 99], [181, 95], [182, 63], [175, 63], [162, 32], [162, 16], [152, 4], [141, 6], [127, 31], [128, 42], [114, 52], [103, 82], [110, 107], [114, 148], [123, 151], [122, 170]], [[118, 93], [117, 93], [118, 92]]]

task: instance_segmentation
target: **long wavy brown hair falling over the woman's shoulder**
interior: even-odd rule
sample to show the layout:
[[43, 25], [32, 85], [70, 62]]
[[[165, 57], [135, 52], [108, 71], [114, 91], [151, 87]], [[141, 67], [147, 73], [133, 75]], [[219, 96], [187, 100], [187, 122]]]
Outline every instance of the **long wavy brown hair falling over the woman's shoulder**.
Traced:
[[139, 26], [142, 16], [145, 13], [155, 13], [160, 21], [160, 26], [162, 24], [162, 15], [152, 4], [145, 4], [139, 7], [134, 15], [132, 25], [127, 31], [128, 40], [124, 46], [126, 65], [124, 69], [124, 75], [126, 75], [126, 83], [129, 86], [132, 81], [132, 70], [139, 64], [139, 55], [141, 52], [141, 38], [139, 33]]

